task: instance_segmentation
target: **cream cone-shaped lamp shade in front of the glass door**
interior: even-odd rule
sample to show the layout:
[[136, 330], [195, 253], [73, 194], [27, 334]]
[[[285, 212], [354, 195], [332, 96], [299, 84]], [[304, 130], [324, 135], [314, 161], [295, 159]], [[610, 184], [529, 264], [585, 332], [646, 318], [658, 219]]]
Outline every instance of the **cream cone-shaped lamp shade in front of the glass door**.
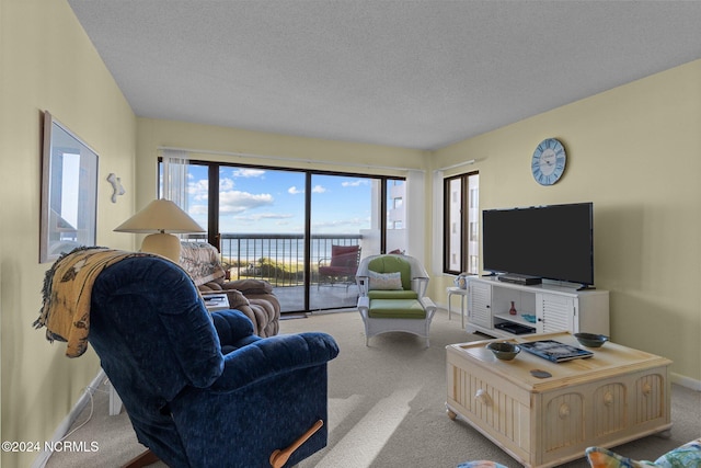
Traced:
[[205, 232], [189, 215], [170, 199], [154, 199], [143, 209], [117, 226], [117, 232]]

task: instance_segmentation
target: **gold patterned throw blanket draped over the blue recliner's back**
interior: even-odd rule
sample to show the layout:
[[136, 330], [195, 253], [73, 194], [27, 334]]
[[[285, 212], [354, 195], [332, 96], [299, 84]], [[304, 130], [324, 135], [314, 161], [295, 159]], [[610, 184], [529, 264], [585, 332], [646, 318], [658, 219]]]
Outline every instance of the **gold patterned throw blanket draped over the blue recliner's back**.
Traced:
[[102, 247], [78, 248], [46, 272], [44, 305], [34, 328], [46, 327], [46, 339], [67, 342], [66, 355], [78, 357], [88, 349], [90, 299], [95, 278], [107, 266], [133, 256], [158, 256]]

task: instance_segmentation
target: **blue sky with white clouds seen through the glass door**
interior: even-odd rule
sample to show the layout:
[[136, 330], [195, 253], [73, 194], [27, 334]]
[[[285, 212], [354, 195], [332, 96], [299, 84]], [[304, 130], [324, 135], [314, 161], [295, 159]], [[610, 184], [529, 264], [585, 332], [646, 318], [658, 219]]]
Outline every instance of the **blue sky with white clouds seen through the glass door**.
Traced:
[[[189, 215], [207, 226], [207, 168], [189, 165]], [[370, 179], [312, 176], [312, 232], [357, 233], [370, 228]], [[304, 174], [220, 167], [219, 231], [301, 233], [304, 231]]]

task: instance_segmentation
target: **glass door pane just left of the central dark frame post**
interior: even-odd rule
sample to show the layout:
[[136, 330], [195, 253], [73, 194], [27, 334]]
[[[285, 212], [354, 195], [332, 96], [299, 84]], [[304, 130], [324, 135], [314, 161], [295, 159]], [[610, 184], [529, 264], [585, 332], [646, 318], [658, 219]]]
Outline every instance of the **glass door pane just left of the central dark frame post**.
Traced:
[[219, 249], [230, 279], [269, 282], [283, 312], [306, 310], [304, 173], [219, 167]]

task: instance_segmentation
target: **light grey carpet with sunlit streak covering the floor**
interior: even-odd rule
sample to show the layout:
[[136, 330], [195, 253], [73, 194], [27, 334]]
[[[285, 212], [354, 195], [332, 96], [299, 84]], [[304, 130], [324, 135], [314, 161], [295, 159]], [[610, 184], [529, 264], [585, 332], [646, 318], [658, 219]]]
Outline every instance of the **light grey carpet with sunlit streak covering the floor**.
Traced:
[[[379, 335], [366, 346], [357, 311], [280, 322], [280, 333], [301, 331], [330, 333], [341, 353], [329, 365], [329, 446], [299, 468], [455, 468], [473, 459], [520, 466], [464, 421], [446, 415], [445, 346], [484, 339], [461, 330], [459, 316], [448, 320], [445, 310], [437, 312], [428, 349], [423, 339], [405, 333]], [[671, 437], [650, 436], [616, 450], [637, 459], [655, 459], [701, 435], [701, 393], [673, 386], [671, 400]], [[106, 395], [97, 392], [91, 421], [70, 437], [96, 441], [97, 452], [55, 454], [46, 466], [118, 467], [142, 452], [124, 411], [117, 416], [106, 413]], [[588, 464], [582, 458], [564, 466], [584, 468]]]

